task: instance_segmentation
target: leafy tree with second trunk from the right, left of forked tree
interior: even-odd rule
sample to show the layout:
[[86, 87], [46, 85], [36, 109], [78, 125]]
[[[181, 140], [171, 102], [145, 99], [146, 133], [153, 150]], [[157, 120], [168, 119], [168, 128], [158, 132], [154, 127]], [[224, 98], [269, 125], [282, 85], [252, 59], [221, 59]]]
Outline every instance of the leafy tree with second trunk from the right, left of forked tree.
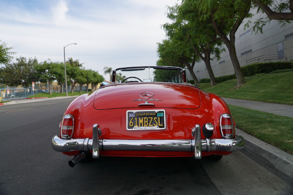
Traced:
[[[217, 46], [220, 46], [222, 41], [217, 37], [212, 24], [207, 20], [200, 19], [201, 15], [194, 11], [198, 9], [194, 5], [196, 4], [192, 6], [189, 1], [186, 1], [181, 5], [168, 7], [167, 17], [173, 22], [166, 23], [163, 27], [172, 41], [179, 41], [184, 44], [184, 48], [191, 47], [195, 54], [205, 62], [211, 86], [214, 86], [216, 79], [211, 69], [210, 60], [220, 59], [222, 50]], [[211, 58], [211, 54], [214, 58]]]

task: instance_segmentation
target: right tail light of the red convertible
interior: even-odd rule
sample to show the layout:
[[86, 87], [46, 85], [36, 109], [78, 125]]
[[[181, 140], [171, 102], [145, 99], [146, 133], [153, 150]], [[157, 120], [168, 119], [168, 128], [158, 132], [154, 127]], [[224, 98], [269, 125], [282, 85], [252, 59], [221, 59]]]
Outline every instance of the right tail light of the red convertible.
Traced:
[[233, 119], [229, 114], [220, 116], [220, 129], [222, 137], [231, 138], [234, 136]]

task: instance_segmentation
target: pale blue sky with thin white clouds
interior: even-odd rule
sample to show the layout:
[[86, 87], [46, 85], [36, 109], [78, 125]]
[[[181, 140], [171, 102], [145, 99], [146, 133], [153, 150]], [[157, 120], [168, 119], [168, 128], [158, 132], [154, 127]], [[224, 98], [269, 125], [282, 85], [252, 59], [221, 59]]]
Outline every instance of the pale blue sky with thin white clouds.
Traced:
[[[177, 0], [0, 0], [0, 39], [14, 57], [63, 61], [86, 69], [155, 65], [165, 39], [166, 6]], [[105, 77], [107, 78], [107, 77]]]

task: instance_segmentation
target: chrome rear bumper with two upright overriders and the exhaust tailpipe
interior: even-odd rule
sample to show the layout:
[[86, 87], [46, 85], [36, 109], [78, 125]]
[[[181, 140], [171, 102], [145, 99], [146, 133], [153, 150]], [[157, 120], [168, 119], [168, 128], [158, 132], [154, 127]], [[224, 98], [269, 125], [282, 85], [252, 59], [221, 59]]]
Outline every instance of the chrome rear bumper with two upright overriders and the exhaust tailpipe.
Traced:
[[58, 152], [81, 151], [75, 156], [69, 165], [74, 167], [85, 157], [84, 152], [92, 151], [93, 158], [99, 157], [99, 151], [122, 150], [122, 151], [180, 151], [194, 152], [196, 159], [201, 158], [202, 151], [226, 151], [236, 152], [245, 145], [243, 137], [223, 138], [223, 139], [201, 139], [200, 125], [194, 125], [192, 129], [192, 139], [188, 140], [125, 140], [125, 139], [99, 139], [101, 129], [98, 124], [93, 126], [92, 138], [68, 138], [63, 139], [55, 135], [52, 138], [52, 148]]

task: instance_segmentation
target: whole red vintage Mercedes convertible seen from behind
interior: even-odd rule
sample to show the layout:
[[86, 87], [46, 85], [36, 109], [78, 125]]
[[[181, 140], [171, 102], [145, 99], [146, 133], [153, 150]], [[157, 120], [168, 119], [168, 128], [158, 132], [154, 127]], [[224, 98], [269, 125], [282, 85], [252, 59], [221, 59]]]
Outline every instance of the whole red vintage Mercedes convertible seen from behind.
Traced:
[[54, 150], [74, 156], [71, 167], [86, 156], [220, 160], [244, 145], [223, 99], [166, 66], [114, 70], [110, 84], [69, 104], [52, 138]]

